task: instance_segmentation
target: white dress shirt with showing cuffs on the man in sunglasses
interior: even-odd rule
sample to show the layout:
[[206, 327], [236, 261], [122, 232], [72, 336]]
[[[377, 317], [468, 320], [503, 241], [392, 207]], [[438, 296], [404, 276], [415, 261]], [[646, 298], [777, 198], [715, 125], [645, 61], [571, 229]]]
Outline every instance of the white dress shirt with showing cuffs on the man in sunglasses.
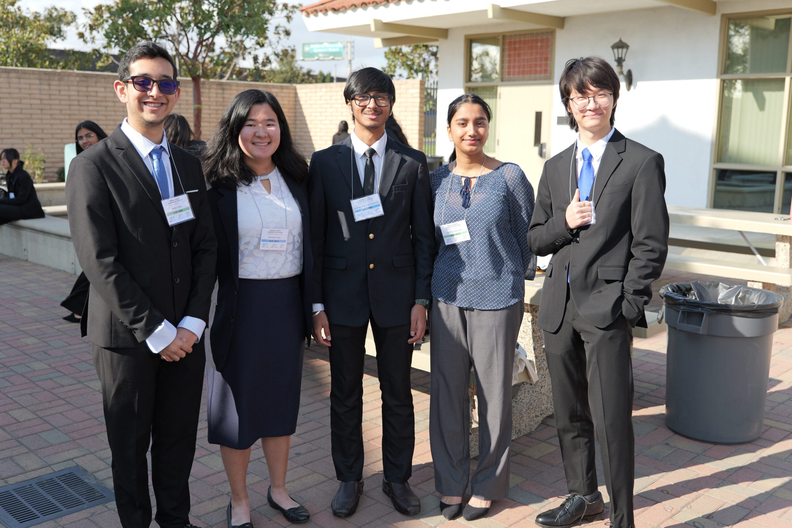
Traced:
[[[162, 132], [162, 141], [155, 143], [132, 128], [131, 124], [127, 123], [126, 118], [121, 122], [121, 131], [127, 135], [129, 141], [135, 146], [135, 150], [138, 151], [140, 158], [143, 159], [143, 163], [145, 163], [146, 167], [149, 169], [152, 180], [154, 180], [154, 161], [151, 159], [151, 150], [154, 150], [155, 146], [162, 146], [162, 164], [165, 165], [165, 171], [168, 175], [170, 196], [173, 196], [173, 174], [170, 169], [170, 151], [168, 150], [168, 142], [165, 139], [165, 132]], [[200, 341], [200, 336], [204, 334], [206, 322], [201, 321], [198, 317], [185, 316], [182, 317], [179, 326], [183, 329], [188, 329], [198, 336], [198, 340], [196, 340], [197, 343]], [[154, 354], [159, 354], [162, 349], [171, 344], [174, 339], [176, 339], [176, 327], [173, 326], [170, 321], [164, 319], [157, 329], [147, 337], [146, 344]]]

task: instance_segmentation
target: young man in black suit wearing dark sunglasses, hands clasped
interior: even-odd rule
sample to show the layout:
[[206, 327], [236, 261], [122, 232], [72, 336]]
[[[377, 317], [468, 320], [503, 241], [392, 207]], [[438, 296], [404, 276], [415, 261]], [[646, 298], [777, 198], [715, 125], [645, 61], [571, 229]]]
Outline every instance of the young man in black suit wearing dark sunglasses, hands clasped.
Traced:
[[200, 161], [163, 131], [179, 98], [173, 59], [139, 44], [118, 74], [128, 117], [69, 167], [69, 225], [91, 285], [82, 335], [101, 381], [121, 526], [150, 525], [153, 439], [154, 520], [185, 528], [215, 233]]

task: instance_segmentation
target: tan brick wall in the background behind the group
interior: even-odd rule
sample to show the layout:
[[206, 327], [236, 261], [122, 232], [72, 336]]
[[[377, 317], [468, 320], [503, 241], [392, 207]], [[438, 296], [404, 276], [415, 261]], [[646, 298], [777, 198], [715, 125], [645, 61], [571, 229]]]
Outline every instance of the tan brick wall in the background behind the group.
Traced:
[[[112, 90], [116, 74], [0, 67], [0, 149], [41, 148], [47, 158], [44, 177], [54, 180], [63, 166], [63, 146], [74, 141], [74, 127], [93, 120], [110, 134], [127, 115]], [[424, 89], [419, 80], [396, 81], [394, 116], [410, 146], [421, 148]], [[300, 150], [310, 157], [330, 145], [338, 122], [349, 118], [343, 83], [281, 85], [261, 82], [204, 81], [203, 137], [208, 139], [228, 102], [242, 90], [266, 89], [284, 108]], [[181, 79], [181, 97], [173, 109], [192, 124], [192, 82]]]

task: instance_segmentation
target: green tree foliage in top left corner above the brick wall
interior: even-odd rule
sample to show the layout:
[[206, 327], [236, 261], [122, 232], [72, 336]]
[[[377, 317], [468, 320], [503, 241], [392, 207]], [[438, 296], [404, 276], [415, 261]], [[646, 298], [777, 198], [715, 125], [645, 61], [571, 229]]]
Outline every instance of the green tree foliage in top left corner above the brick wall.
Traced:
[[86, 54], [66, 50], [56, 57], [47, 44], [63, 40], [76, 16], [67, 9], [48, 7], [44, 13], [17, 6], [19, 0], [0, 0], [0, 66], [80, 69], [90, 63]]

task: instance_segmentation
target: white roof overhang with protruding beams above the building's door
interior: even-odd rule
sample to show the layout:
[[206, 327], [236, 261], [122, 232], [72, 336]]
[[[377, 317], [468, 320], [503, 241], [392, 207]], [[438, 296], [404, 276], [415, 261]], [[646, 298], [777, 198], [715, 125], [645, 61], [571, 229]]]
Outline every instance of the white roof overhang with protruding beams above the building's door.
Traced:
[[310, 31], [371, 36], [377, 47], [438, 42], [447, 30], [517, 22], [526, 28], [563, 28], [564, 18], [595, 13], [676, 6], [714, 15], [714, 0], [322, 0], [303, 6]]

